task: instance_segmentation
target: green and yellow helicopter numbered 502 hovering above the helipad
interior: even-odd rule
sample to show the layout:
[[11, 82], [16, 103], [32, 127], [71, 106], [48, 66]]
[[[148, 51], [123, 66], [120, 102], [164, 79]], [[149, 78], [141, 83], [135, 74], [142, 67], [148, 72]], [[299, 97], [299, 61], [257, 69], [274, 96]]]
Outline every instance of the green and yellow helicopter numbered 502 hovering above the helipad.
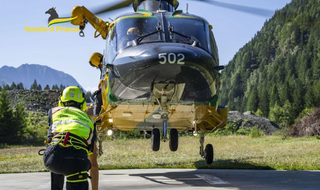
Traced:
[[[208, 0], [201, 0], [208, 1]], [[134, 12], [112, 22], [95, 14], [128, 6]], [[95, 13], [75, 6], [71, 21], [84, 36], [87, 22], [94, 37], [105, 40], [101, 58], [101, 111], [93, 117], [98, 131], [98, 154], [102, 135], [114, 130], [139, 130], [151, 138], [151, 149], [160, 141], [178, 148], [178, 131], [199, 135], [199, 154], [207, 164], [213, 161], [213, 146], [204, 147], [204, 133], [227, 125], [227, 106], [218, 104], [220, 70], [218, 50], [205, 18], [177, 10], [177, 0], [124, 0]], [[168, 133], [168, 135], [167, 135]]]

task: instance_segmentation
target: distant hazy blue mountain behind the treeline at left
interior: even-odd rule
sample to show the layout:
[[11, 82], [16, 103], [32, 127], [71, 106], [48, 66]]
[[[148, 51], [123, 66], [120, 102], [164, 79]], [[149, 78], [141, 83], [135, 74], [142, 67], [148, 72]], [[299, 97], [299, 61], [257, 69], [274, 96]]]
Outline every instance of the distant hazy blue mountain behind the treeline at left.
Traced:
[[71, 75], [44, 65], [22, 64], [17, 68], [5, 65], [0, 68], [1, 83], [4, 82], [10, 85], [12, 82], [16, 84], [22, 82], [24, 88], [30, 89], [34, 79], [36, 79], [37, 84], [41, 84], [42, 89], [46, 84], [50, 88], [54, 84], [81, 87]]

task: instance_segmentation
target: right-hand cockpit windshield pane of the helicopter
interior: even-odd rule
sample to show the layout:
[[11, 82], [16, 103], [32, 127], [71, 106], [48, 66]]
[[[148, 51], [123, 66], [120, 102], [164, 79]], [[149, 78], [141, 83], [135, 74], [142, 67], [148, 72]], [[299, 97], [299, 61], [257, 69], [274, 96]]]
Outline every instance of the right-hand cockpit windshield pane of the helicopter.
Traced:
[[[193, 40], [199, 41], [199, 47], [211, 52], [208, 42], [209, 39], [209, 26], [202, 20], [185, 19], [185, 18], [168, 18], [169, 27], [173, 31], [187, 36]], [[169, 39], [175, 43], [191, 44], [191, 41], [186, 37], [177, 33], [170, 33]]]

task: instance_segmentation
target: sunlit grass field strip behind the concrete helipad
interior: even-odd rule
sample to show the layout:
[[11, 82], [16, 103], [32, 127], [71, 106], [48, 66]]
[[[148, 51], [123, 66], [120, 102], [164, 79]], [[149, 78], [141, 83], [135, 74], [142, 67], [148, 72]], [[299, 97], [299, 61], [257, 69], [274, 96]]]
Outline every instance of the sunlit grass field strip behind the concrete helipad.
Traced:
[[[320, 170], [319, 137], [282, 136], [206, 137], [204, 145], [213, 144], [213, 163], [207, 165], [199, 155], [199, 139], [179, 138], [176, 152], [168, 142], [160, 150], [151, 150], [150, 139], [105, 140], [98, 158], [100, 169], [123, 168], [215, 168], [215, 169], [307, 169]], [[0, 149], [0, 173], [47, 171], [42, 147]]]

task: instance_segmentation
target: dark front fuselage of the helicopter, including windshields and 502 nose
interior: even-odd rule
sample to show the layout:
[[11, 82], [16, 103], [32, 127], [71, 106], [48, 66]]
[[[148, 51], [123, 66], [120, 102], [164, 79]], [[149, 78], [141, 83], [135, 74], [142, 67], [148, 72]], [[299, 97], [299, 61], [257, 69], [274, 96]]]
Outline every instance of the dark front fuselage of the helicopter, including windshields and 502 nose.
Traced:
[[[199, 16], [137, 9], [111, 24], [103, 62], [109, 104], [154, 103], [156, 84], [181, 84], [179, 103], [217, 105], [218, 52], [212, 26]], [[177, 102], [171, 102], [177, 103]]]

